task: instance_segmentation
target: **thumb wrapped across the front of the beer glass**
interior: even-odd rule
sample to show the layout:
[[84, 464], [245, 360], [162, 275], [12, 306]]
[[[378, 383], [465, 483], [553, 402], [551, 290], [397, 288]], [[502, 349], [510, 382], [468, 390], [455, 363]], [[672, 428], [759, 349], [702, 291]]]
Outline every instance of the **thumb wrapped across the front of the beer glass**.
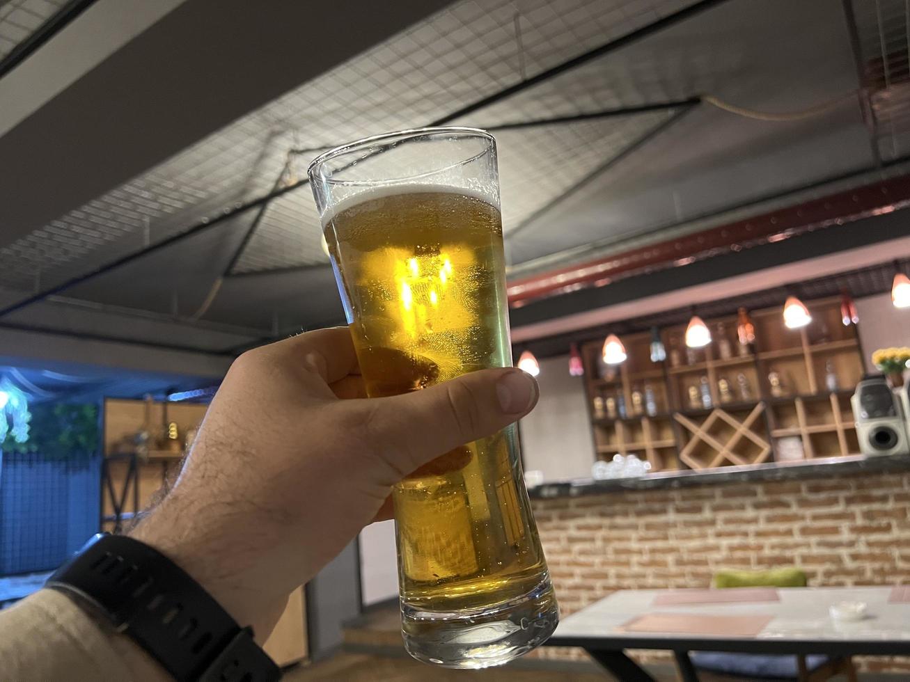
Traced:
[[483, 369], [420, 391], [356, 401], [367, 442], [398, 483], [451, 449], [491, 436], [531, 412], [534, 378], [513, 367]]

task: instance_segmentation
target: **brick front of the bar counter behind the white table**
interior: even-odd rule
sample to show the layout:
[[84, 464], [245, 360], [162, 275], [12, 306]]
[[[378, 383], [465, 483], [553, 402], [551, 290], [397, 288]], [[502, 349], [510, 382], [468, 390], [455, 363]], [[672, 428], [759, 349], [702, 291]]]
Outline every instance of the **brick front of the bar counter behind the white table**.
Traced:
[[[798, 566], [813, 586], [910, 584], [910, 473], [632, 490], [533, 506], [564, 616], [617, 589], [708, 587], [719, 568]], [[864, 667], [910, 670], [910, 662]]]

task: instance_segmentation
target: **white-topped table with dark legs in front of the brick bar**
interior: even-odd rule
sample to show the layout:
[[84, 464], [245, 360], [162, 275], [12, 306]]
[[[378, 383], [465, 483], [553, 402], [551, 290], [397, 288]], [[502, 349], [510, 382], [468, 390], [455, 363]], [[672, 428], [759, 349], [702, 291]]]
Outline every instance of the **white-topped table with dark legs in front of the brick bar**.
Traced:
[[[654, 606], [654, 598], [671, 590], [620, 590], [566, 617], [547, 642], [551, 647], [582, 647], [623, 682], [653, 682], [623, 649], [665, 649], [676, 656], [686, 682], [698, 676], [690, 651], [736, 651], [750, 654], [826, 654], [830, 656], [910, 655], [910, 603], [889, 604], [892, 587], [788, 587], [780, 601], [760, 603]], [[862, 601], [868, 617], [838, 623], [828, 607]], [[647, 614], [717, 616], [767, 615], [773, 619], [755, 637], [623, 632], [635, 617]]]

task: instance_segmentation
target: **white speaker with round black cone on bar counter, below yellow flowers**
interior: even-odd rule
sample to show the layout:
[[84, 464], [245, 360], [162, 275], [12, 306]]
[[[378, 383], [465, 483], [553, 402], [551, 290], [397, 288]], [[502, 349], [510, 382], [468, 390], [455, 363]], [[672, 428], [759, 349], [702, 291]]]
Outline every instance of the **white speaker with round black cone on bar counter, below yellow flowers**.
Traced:
[[850, 398], [856, 436], [864, 455], [906, 455], [907, 426], [901, 400], [884, 376], [864, 378]]

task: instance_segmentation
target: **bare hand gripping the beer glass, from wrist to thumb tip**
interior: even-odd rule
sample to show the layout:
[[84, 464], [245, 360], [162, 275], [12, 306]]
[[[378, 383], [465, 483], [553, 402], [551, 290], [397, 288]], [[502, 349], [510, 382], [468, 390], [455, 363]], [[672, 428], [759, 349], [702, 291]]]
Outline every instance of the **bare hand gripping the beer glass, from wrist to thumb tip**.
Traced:
[[528, 414], [537, 385], [487, 369], [366, 399], [346, 327], [249, 351], [231, 366], [170, 491], [133, 536], [268, 636], [288, 594], [377, 517], [391, 487]]

